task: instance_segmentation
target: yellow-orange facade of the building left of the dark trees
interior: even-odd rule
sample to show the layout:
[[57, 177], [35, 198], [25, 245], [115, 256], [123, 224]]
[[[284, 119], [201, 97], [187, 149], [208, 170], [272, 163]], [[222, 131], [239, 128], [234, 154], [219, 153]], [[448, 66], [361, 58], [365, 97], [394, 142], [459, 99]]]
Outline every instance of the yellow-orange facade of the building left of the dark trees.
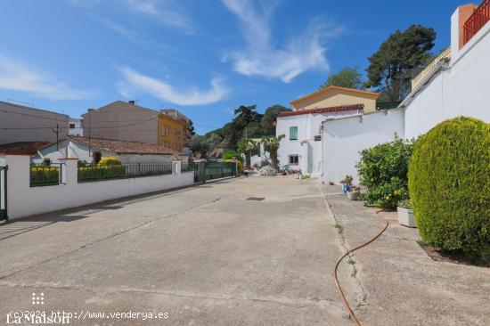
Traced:
[[175, 151], [183, 151], [187, 143], [187, 121], [184, 118], [173, 118], [159, 114], [159, 145]]

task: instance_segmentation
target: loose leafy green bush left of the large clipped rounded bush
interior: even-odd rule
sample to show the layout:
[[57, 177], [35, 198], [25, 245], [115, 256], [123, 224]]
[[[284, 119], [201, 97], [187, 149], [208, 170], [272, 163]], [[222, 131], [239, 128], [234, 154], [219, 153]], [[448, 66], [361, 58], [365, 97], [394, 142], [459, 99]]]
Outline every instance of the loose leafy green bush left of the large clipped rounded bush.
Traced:
[[413, 141], [398, 137], [361, 151], [355, 165], [361, 184], [367, 187], [363, 200], [367, 205], [395, 209], [400, 200], [408, 198], [408, 164]]

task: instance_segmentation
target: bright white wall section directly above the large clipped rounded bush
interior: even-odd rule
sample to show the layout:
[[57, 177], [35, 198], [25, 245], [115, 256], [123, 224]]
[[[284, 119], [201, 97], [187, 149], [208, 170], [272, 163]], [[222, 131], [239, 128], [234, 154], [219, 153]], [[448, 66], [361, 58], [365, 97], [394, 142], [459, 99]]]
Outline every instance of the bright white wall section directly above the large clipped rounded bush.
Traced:
[[405, 106], [405, 138], [424, 134], [439, 122], [458, 116], [490, 123], [490, 23], [461, 50], [454, 50], [458, 47], [454, 42], [452, 39], [449, 68]]

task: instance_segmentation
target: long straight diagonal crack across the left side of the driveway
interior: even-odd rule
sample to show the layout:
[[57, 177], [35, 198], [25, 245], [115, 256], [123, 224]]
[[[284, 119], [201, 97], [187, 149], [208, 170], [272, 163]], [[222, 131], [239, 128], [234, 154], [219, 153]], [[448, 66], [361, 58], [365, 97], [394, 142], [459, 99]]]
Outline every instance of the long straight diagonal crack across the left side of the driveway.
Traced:
[[55, 256], [55, 257], [51, 257], [51, 258], [45, 259], [44, 261], [39, 262], [39, 263], [34, 264], [34, 265], [29, 265], [29, 266], [20, 268], [20, 270], [18, 270], [18, 271], [15, 271], [15, 272], [12, 272], [12, 273], [8, 273], [8, 274], [5, 274], [5, 275], [1, 275], [0, 276], [0, 280], [4, 280], [7, 277], [16, 275], [18, 273], [29, 271], [29, 269], [36, 268], [39, 265], [45, 265], [46, 263], [52, 262], [53, 260], [56, 260], [58, 258], [69, 256], [69, 255], [71, 255], [71, 254], [73, 254], [73, 253], [75, 253], [75, 252], [77, 252], [77, 251], [79, 251], [81, 249], [85, 249], [86, 247], [94, 246], [95, 244], [100, 243], [102, 241], [110, 240], [112, 238], [117, 237], [118, 235], [121, 235], [121, 234], [124, 234], [124, 233], [127, 233], [127, 232], [131, 232], [131, 231], [133, 231], [135, 229], [138, 229], [138, 228], [140, 228], [140, 227], [142, 227], [142, 226], [144, 226], [146, 224], [151, 224], [151, 223], [153, 223], [155, 221], [167, 219], [167, 218], [170, 218], [170, 217], [173, 217], [173, 216], [177, 216], [177, 215], [182, 214], [182, 213], [186, 213], [186, 212], [192, 211], [192, 209], [200, 208], [202, 206], [206, 206], [206, 205], [208, 205], [210, 203], [216, 202], [217, 200], [221, 200], [222, 198], [223, 198], [223, 196], [220, 196], [220, 197], [218, 197], [218, 198], [216, 198], [214, 200], [206, 201], [206, 202], [204, 202], [204, 203], [202, 203], [200, 205], [193, 206], [192, 208], [186, 208], [184, 210], [178, 211], [176, 213], [173, 213], [173, 214], [170, 214], [170, 215], [167, 215], [167, 216], [156, 217], [156, 218], [153, 218], [153, 219], [151, 219], [149, 221], [146, 221], [146, 222], [144, 222], [142, 224], [137, 224], [135, 226], [132, 226], [132, 227], [127, 228], [125, 230], [122, 230], [120, 232], [112, 233], [112, 234], [110, 234], [107, 237], [104, 237], [104, 238], [101, 238], [101, 239], [97, 239], [97, 240], [93, 240], [91, 242], [88, 242], [88, 243], [84, 244], [83, 246], [80, 246], [80, 247], [76, 248], [76, 249], [72, 249], [72, 250], [69, 250], [68, 252], [62, 253], [61, 255], [58, 255], [58, 256]]

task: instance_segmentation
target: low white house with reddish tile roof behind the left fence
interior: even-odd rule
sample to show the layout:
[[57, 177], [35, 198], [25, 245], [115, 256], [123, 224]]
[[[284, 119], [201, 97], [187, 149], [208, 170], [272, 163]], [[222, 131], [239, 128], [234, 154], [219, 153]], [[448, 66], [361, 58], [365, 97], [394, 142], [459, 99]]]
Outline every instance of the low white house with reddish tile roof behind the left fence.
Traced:
[[[87, 163], [98, 163], [105, 157], [116, 157], [123, 164], [168, 163], [178, 159], [176, 151], [151, 143], [114, 141], [109, 139], [69, 136], [58, 145], [52, 143], [37, 151], [34, 163], [60, 163], [60, 159], [78, 159]], [[185, 159], [186, 157], [183, 157]]]

